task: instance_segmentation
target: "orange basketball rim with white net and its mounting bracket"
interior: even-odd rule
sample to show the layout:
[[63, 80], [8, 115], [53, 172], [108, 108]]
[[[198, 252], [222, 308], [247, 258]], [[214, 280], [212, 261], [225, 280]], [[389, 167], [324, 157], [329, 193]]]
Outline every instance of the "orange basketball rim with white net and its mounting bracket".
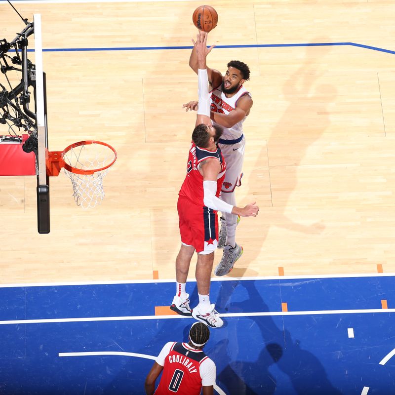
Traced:
[[103, 200], [103, 177], [116, 160], [117, 152], [111, 145], [79, 141], [63, 151], [47, 152], [47, 175], [58, 176], [63, 167], [72, 182], [77, 205], [92, 208]]

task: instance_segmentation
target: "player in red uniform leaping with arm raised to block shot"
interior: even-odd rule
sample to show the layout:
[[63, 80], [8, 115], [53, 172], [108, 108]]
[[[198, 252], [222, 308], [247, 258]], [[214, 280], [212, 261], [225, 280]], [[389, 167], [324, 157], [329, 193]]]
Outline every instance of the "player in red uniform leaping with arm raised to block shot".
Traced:
[[[214, 250], [218, 244], [217, 210], [243, 217], [256, 217], [259, 208], [255, 202], [241, 208], [219, 198], [226, 164], [217, 145], [221, 136], [221, 127], [213, 126], [210, 119], [211, 101], [208, 95], [206, 56], [213, 46], [207, 48], [207, 33], [204, 32], [197, 36], [196, 42], [192, 41], [198, 59], [199, 108], [196, 127], [192, 134], [187, 175], [177, 203], [181, 248], [176, 259], [177, 291], [170, 309], [183, 316], [193, 316], [212, 328], [218, 328], [223, 325], [223, 321], [209, 299]], [[192, 310], [185, 285], [195, 251], [199, 303]]]

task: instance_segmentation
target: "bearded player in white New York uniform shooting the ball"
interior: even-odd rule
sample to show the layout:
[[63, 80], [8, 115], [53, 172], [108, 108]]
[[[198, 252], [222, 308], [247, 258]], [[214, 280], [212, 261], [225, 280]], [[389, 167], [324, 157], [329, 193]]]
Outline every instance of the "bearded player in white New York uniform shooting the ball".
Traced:
[[[197, 73], [197, 53], [194, 48], [189, 60], [190, 67]], [[218, 70], [207, 67], [208, 80], [211, 84], [211, 119], [214, 124], [223, 127], [223, 135], [219, 147], [225, 157], [227, 170], [222, 184], [221, 199], [236, 205], [235, 188], [241, 185], [241, 170], [244, 159], [245, 139], [242, 124], [252, 107], [251, 94], [243, 84], [250, 77], [248, 66], [238, 60], [228, 63], [225, 76]], [[197, 102], [189, 102], [183, 107], [188, 110], [197, 109]], [[236, 243], [236, 227], [238, 217], [234, 214], [222, 213], [221, 230], [218, 248], [224, 248], [220, 263], [214, 270], [216, 276], [228, 274], [243, 253]]]

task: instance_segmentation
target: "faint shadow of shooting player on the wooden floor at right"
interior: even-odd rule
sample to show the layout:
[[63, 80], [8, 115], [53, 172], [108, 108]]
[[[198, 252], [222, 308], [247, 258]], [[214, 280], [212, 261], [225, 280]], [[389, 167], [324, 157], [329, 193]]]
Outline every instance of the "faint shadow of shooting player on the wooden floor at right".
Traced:
[[[330, 41], [330, 38], [321, 37], [316, 38], [313, 42]], [[267, 132], [267, 145], [261, 149], [255, 163], [252, 164], [248, 181], [244, 180], [248, 188], [247, 195], [261, 194], [259, 196], [261, 200], [257, 197], [258, 204], [261, 208], [272, 207], [271, 211], [276, 214], [271, 221], [268, 220], [260, 226], [259, 237], [254, 240], [255, 248], [248, 250], [248, 252], [246, 250], [250, 262], [259, 257], [261, 247], [273, 227], [306, 234], [309, 237], [320, 235], [325, 228], [319, 218], [310, 224], [301, 223], [292, 218], [289, 215], [289, 208], [294, 203], [289, 200], [298, 185], [301, 162], [309, 148], [331, 126], [330, 106], [335, 103], [337, 89], [322, 81], [325, 74], [320, 71], [319, 67], [330, 51], [331, 46], [306, 47], [303, 63], [284, 82], [282, 89], [280, 87], [278, 89], [279, 95], [282, 93], [281, 100], [286, 104], [286, 107], [276, 121], [276, 125], [270, 132]], [[270, 103], [264, 102], [261, 103], [261, 106], [270, 108]], [[254, 109], [252, 110], [254, 111]], [[248, 123], [245, 127], [248, 130]], [[284, 147], [283, 151], [279, 147]], [[248, 155], [248, 141], [246, 152]], [[266, 172], [269, 181], [267, 185], [263, 186], [256, 181]], [[257, 188], [262, 188], [262, 190], [258, 192]], [[311, 185], [313, 192], [314, 188], [313, 183]], [[269, 191], [270, 196], [267, 197]], [[308, 195], [309, 191], [304, 191], [304, 193]], [[239, 226], [242, 226], [242, 223], [243, 220]], [[242, 240], [240, 243], [242, 245]], [[242, 263], [240, 260], [240, 265], [235, 265], [231, 276], [244, 276], [248, 266], [247, 262]], [[249, 269], [249, 276], [252, 274], [253, 271]]]

